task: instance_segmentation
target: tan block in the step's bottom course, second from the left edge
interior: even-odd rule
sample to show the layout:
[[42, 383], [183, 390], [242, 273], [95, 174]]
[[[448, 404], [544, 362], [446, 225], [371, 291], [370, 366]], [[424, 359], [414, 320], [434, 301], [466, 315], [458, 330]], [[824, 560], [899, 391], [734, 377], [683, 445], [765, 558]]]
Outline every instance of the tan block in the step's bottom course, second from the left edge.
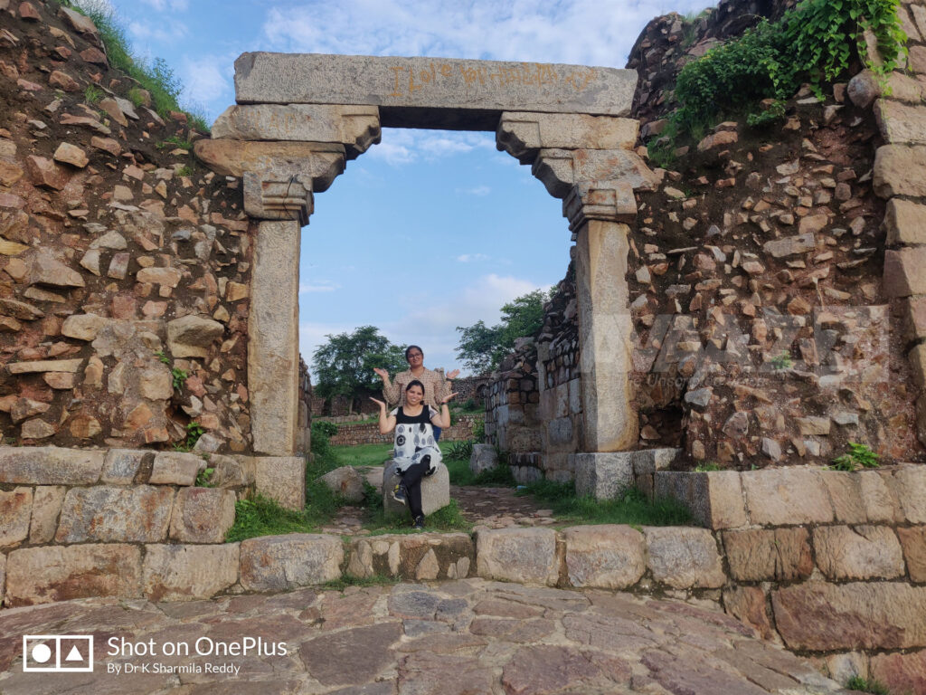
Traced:
[[208, 599], [238, 581], [238, 543], [145, 546], [142, 588], [148, 600]]

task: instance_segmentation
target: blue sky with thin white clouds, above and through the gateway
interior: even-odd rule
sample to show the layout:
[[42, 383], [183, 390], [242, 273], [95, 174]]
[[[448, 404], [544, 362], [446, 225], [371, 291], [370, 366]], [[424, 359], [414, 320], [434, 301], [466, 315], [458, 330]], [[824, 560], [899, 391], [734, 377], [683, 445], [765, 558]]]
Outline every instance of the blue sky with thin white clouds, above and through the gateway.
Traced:
[[[646, 22], [707, 0], [90, 0], [107, 2], [136, 54], [162, 57], [182, 101], [215, 120], [245, 51], [463, 57], [623, 68]], [[315, 197], [303, 230], [300, 351], [379, 326], [453, 369], [458, 325], [557, 283], [569, 263], [560, 201], [493, 133], [387, 129]], [[464, 370], [465, 372], [465, 370]]]

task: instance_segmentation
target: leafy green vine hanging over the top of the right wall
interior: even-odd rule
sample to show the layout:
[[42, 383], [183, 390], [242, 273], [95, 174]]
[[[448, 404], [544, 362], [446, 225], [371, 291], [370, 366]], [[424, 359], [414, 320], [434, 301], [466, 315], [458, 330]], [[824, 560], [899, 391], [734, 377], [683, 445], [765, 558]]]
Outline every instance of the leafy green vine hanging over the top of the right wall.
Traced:
[[[844, 75], [856, 56], [886, 76], [907, 55], [898, 5], [899, 0], [802, 0], [776, 22], [763, 19], [682, 68], [671, 132], [696, 135], [727, 114], [745, 113], [753, 125], [768, 122], [783, 115], [783, 108], [766, 114], [759, 102], [781, 104], [805, 82], [822, 97], [822, 85]], [[882, 57], [877, 64], [868, 59], [866, 32], [877, 42]]]

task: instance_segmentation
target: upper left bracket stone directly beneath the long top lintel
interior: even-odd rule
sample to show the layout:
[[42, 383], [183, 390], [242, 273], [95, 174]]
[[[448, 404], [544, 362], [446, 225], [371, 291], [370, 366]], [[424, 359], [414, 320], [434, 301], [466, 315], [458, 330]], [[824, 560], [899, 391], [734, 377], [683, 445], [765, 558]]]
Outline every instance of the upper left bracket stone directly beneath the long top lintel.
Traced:
[[213, 139], [284, 140], [344, 145], [348, 159], [380, 142], [380, 109], [323, 104], [255, 104], [226, 108]]

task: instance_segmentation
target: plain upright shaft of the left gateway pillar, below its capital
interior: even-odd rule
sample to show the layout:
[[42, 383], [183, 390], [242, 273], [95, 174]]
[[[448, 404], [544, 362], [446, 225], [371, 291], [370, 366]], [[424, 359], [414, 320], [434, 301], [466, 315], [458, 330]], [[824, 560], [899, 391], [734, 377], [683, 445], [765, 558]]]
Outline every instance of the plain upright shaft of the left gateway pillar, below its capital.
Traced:
[[261, 221], [251, 278], [247, 381], [254, 450], [292, 456], [299, 427], [297, 220]]

